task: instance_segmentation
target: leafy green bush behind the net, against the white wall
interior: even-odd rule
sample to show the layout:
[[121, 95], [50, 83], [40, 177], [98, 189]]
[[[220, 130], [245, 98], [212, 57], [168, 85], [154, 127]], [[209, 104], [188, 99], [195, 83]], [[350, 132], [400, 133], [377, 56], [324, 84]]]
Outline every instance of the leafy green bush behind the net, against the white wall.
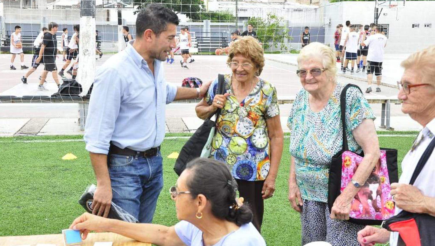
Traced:
[[[268, 13], [268, 16], [263, 19], [260, 17], [251, 17], [249, 23], [257, 29], [258, 40], [263, 43], [264, 50], [270, 47], [278, 48], [284, 43], [284, 39], [288, 42], [292, 39], [288, 35], [289, 29], [284, 26], [284, 18]], [[281, 49], [287, 50], [287, 46], [281, 46]]]

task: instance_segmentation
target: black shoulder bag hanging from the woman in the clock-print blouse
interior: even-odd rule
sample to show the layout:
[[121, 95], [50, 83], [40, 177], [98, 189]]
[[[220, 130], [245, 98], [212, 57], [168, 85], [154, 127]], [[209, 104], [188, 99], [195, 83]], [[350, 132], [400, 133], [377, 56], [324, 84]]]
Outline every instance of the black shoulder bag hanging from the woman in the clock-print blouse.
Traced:
[[[225, 90], [225, 80], [224, 75], [219, 74], [218, 76], [218, 91], [216, 95], [224, 94]], [[210, 132], [216, 126], [216, 122], [211, 120], [213, 115], [216, 115], [216, 119], [221, 113], [221, 109], [218, 108], [214, 114], [211, 114], [204, 123], [195, 131], [195, 133], [189, 138], [189, 140], [184, 144], [183, 148], [181, 148], [180, 154], [178, 155], [177, 160], [175, 161], [174, 171], [180, 176], [180, 174], [186, 168], [186, 164], [193, 159], [200, 157], [201, 152], [204, 149], [204, 146], [209, 139]]]

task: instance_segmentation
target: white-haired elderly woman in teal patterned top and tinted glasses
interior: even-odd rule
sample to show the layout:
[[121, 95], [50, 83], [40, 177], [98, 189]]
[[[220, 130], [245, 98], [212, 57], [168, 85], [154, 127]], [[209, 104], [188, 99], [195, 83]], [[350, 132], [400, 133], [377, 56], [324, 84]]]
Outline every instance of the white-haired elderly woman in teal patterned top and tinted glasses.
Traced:
[[[338, 246], [357, 246], [363, 226], [349, 219], [352, 199], [358, 192], [349, 183], [328, 209], [328, 174], [331, 158], [342, 148], [340, 94], [335, 56], [331, 48], [311, 43], [298, 56], [303, 89], [295, 98], [288, 118], [291, 130], [291, 168], [288, 199], [301, 213], [302, 244], [327, 241]], [[365, 156], [353, 179], [364, 184], [379, 159], [375, 116], [364, 95], [351, 87], [346, 95], [346, 135], [349, 149]]]

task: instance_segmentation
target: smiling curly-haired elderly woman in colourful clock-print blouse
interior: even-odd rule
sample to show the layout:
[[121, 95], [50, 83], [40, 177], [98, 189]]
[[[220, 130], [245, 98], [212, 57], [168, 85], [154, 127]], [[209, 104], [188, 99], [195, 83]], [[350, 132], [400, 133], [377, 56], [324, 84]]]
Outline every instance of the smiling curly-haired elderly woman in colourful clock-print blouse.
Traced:
[[216, 95], [215, 79], [195, 110], [205, 119], [222, 108], [210, 157], [228, 165], [240, 197], [252, 208], [252, 223], [260, 231], [264, 199], [274, 194], [284, 142], [276, 89], [259, 78], [263, 49], [251, 36], [231, 46], [227, 62], [232, 73], [224, 75], [224, 95]]

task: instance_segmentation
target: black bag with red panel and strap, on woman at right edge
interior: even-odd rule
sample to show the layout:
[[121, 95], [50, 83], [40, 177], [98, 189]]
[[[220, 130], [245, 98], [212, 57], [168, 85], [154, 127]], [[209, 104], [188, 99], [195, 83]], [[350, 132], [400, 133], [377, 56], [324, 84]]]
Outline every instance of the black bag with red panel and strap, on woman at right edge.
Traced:
[[[435, 138], [426, 148], [412, 173], [409, 184], [413, 185], [435, 148]], [[428, 184], [433, 185], [433, 184]], [[382, 223], [382, 227], [398, 232], [397, 246], [432, 246], [435, 245], [435, 217], [426, 213], [410, 213], [402, 210]]]

